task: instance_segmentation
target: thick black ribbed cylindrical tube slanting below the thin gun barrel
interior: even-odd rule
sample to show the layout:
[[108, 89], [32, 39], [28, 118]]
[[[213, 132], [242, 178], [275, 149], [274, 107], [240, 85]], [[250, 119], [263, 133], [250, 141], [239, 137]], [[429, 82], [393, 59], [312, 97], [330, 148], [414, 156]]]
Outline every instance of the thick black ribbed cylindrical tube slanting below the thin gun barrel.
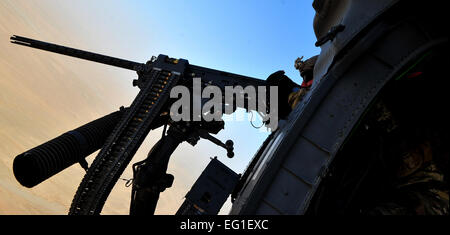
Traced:
[[111, 113], [18, 155], [13, 162], [17, 181], [32, 188], [80, 162], [102, 147], [123, 113]]

